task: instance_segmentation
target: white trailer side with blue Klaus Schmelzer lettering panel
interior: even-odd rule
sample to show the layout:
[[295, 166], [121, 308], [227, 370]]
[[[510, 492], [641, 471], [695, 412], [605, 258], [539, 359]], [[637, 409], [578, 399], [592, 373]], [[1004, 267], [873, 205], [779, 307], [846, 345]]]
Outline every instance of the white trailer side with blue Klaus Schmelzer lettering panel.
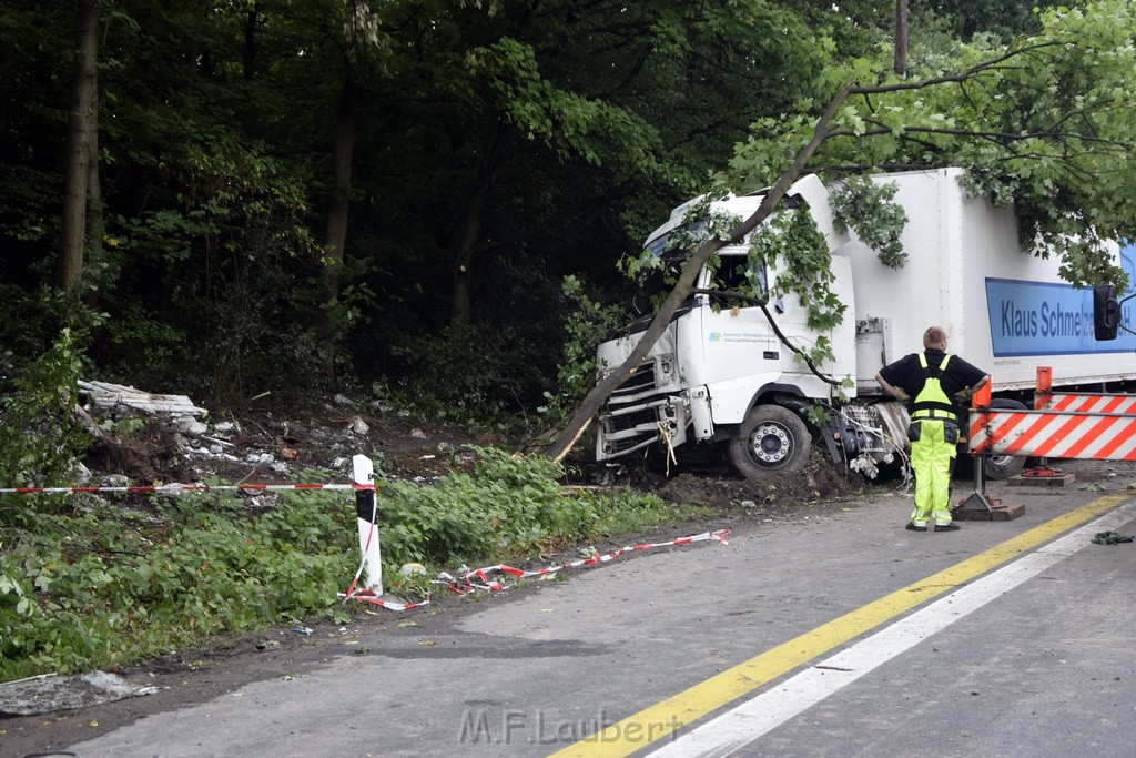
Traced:
[[[860, 393], [878, 393], [875, 373], [921, 350], [932, 325], [947, 331], [951, 352], [989, 372], [994, 392], [1031, 389], [1037, 366], [1053, 367], [1054, 386], [1136, 378], [1136, 335], [1097, 342], [1092, 289], [1061, 282], [1055, 258], [1022, 250], [1013, 210], [968, 198], [962, 174], [945, 168], [875, 177], [897, 185], [895, 200], [908, 214], [902, 269], [887, 268], [854, 238], [834, 251], [852, 261], [858, 325], [888, 327], [860, 326]], [[1136, 282], [1136, 249], [1113, 250]]]

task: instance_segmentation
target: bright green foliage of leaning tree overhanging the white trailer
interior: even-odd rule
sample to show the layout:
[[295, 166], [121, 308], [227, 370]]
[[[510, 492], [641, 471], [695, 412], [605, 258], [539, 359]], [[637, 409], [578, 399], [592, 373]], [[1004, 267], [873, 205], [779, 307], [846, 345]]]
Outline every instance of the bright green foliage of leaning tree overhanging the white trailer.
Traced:
[[[916, 56], [908, 78], [883, 57], [827, 67], [794, 109], [754, 124], [732, 186], [771, 185], [811, 140], [802, 173], [961, 166], [972, 194], [1017, 206], [1022, 241], [1058, 256], [1068, 281], [1125, 283], [1103, 241], [1136, 239], [1136, 172], [1125, 168], [1136, 147], [1136, 8], [1097, 0], [1041, 22], [1009, 45], [976, 35], [950, 55]], [[858, 194], [849, 202], [863, 202]], [[902, 264], [886, 230], [858, 233], [885, 265]]]

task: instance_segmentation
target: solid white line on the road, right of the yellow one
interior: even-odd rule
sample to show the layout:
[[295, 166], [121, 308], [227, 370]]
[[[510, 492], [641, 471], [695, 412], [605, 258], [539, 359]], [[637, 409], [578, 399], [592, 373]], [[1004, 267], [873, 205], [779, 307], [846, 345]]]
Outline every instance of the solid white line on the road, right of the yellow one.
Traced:
[[1124, 505], [1012, 564], [959, 588], [650, 755], [674, 758], [728, 756], [967, 614], [1074, 555], [1089, 543], [1097, 532], [1114, 531], [1133, 518], [1136, 518], [1136, 502]]

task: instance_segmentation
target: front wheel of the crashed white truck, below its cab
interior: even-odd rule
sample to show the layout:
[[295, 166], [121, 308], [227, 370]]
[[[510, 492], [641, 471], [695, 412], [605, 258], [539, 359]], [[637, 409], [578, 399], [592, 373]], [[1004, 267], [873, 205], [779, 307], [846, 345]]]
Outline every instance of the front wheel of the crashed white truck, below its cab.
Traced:
[[796, 470], [811, 451], [804, 422], [780, 406], [755, 406], [729, 441], [729, 460], [746, 478]]

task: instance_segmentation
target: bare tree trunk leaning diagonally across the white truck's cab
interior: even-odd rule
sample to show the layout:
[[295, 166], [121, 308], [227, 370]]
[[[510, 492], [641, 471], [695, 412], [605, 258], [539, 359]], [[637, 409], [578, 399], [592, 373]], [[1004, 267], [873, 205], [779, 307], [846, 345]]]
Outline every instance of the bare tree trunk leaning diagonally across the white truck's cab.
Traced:
[[651, 325], [648, 326], [643, 336], [635, 344], [635, 349], [632, 353], [627, 356], [615, 370], [604, 376], [595, 388], [587, 393], [587, 397], [580, 402], [579, 408], [568, 420], [568, 426], [560, 433], [557, 440], [552, 443], [545, 455], [548, 455], [553, 460], [561, 460], [568, 451], [571, 450], [576, 441], [579, 440], [584, 430], [587, 428], [588, 423], [591, 423], [592, 417], [600, 413], [603, 403], [607, 402], [611, 393], [619, 388], [624, 381], [638, 368], [643, 359], [646, 358], [651, 348], [654, 347], [655, 341], [666, 331], [667, 325], [670, 324], [671, 317], [675, 311], [678, 310], [678, 306], [683, 303], [686, 298], [688, 298], [694, 291], [694, 281], [698, 278], [699, 272], [705, 266], [707, 261], [710, 260], [710, 256], [717, 252], [719, 249], [727, 244], [736, 244], [741, 240], [745, 239], [750, 232], [755, 230], [759, 224], [761, 224], [769, 215], [772, 213], [777, 203], [780, 202], [782, 198], [792, 186], [793, 182], [797, 180], [804, 167], [808, 165], [809, 160], [812, 158], [817, 149], [824, 144], [825, 140], [828, 139], [828, 123], [833, 119], [841, 103], [847, 97], [851, 88], [844, 88], [841, 90], [836, 97], [828, 103], [825, 109], [824, 115], [817, 120], [817, 126], [813, 130], [812, 139], [809, 143], [801, 149], [796, 157], [793, 159], [792, 165], [785, 173], [778, 177], [777, 182], [772, 185], [769, 192], [766, 193], [765, 199], [752, 216], [742, 222], [738, 226], [730, 230], [726, 239], [708, 240], [698, 247], [694, 253], [687, 259], [686, 265], [683, 267], [683, 272], [678, 275], [678, 281], [675, 283], [675, 289], [671, 290], [667, 300], [659, 308], [659, 313], [654, 315], [654, 319]]

